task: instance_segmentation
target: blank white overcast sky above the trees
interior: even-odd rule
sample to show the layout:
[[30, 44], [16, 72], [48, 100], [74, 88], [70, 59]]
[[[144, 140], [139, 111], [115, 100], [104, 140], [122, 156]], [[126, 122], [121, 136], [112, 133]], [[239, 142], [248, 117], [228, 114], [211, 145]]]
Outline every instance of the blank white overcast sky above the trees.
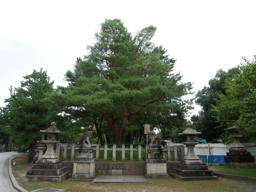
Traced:
[[[67, 85], [64, 73], [76, 57], [87, 54], [100, 23], [119, 18], [134, 35], [154, 25], [155, 45], [176, 58], [174, 72], [193, 82], [193, 91], [208, 85], [218, 69], [237, 66], [256, 54], [254, 0], [95, 0], [0, 1], [0, 107], [19, 87], [22, 76], [48, 71], [54, 85]], [[189, 96], [186, 98], [192, 98]], [[192, 110], [197, 114], [198, 105]]]

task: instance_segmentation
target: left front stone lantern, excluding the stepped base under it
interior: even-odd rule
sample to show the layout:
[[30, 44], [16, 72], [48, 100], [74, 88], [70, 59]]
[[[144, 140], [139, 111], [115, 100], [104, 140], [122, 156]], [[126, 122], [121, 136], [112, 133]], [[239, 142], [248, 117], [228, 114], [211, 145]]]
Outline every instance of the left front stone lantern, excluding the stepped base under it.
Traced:
[[42, 142], [46, 144], [47, 150], [44, 155], [42, 155], [41, 160], [38, 163], [41, 164], [56, 164], [59, 162], [57, 155], [54, 153], [54, 146], [59, 143], [60, 141], [56, 141], [57, 134], [61, 134], [61, 132], [56, 127], [55, 122], [51, 123], [51, 126], [46, 130], [40, 130], [43, 133], [47, 133], [47, 140], [43, 140]]

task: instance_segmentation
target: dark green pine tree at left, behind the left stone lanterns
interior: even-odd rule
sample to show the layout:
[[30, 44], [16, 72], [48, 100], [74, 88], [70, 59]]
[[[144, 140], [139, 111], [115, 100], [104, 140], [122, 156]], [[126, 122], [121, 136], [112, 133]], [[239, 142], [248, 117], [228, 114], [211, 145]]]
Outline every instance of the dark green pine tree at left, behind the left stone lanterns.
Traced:
[[16, 144], [24, 145], [23, 150], [30, 149], [40, 138], [40, 130], [50, 123], [63, 125], [62, 117], [45, 101], [46, 95], [53, 92], [53, 81], [45, 71], [33, 71], [24, 76], [20, 87], [10, 89], [10, 97], [5, 99], [6, 106], [1, 108], [2, 123], [10, 127]]

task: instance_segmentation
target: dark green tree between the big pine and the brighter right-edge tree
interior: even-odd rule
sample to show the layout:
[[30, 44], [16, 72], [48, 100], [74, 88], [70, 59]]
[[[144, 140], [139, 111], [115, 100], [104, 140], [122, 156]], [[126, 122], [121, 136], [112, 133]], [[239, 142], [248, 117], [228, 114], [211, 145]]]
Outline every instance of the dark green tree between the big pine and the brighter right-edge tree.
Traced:
[[227, 81], [232, 80], [233, 76], [239, 73], [238, 68], [229, 69], [227, 72], [222, 69], [218, 70], [215, 77], [208, 82], [209, 86], [204, 87], [196, 94], [196, 103], [202, 107], [202, 111], [198, 115], [193, 115], [191, 121], [193, 122], [193, 128], [202, 131], [200, 137], [207, 141], [221, 138], [224, 128], [226, 128], [225, 124], [217, 122], [212, 108], [216, 105], [219, 94], [226, 94]]

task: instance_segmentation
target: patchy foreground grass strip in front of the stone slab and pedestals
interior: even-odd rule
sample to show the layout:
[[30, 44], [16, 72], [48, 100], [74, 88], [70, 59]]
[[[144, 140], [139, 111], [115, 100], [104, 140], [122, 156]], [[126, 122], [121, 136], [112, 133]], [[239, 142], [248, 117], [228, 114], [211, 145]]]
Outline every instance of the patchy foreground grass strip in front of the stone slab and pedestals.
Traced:
[[[65, 189], [65, 192], [235, 192], [234, 186], [214, 181], [148, 180], [147, 184], [92, 185], [84, 181], [63, 181], [61, 183], [33, 182], [19, 183], [27, 191], [45, 187]], [[241, 191], [242, 192], [242, 191]]]

